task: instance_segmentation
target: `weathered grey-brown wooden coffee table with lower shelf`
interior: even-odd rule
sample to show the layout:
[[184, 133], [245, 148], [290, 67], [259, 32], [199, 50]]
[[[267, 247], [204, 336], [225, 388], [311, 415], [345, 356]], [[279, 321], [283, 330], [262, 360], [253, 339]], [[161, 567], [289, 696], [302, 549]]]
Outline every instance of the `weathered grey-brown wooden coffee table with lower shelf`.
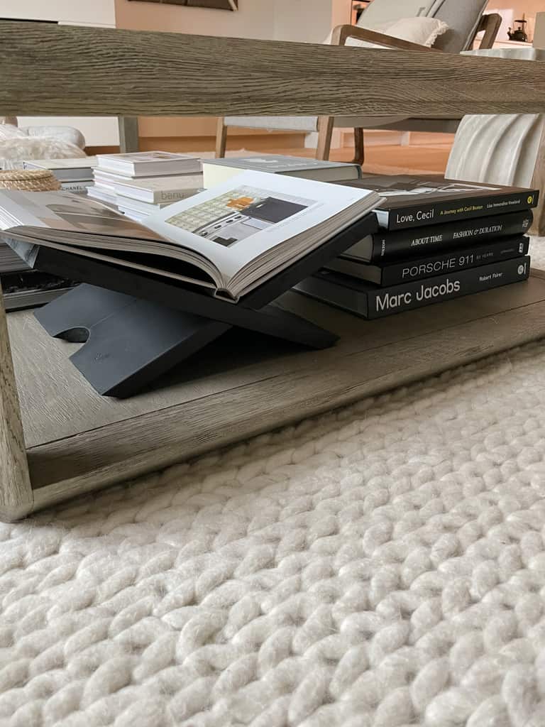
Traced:
[[[542, 63], [12, 21], [0, 22], [0, 41], [6, 114], [545, 111]], [[336, 332], [339, 343], [316, 352], [227, 334], [153, 390], [118, 401], [94, 393], [73, 369], [73, 345], [50, 339], [29, 311], [6, 317], [0, 296], [1, 518], [545, 335], [539, 271], [525, 283], [371, 323], [294, 293], [282, 305]]]

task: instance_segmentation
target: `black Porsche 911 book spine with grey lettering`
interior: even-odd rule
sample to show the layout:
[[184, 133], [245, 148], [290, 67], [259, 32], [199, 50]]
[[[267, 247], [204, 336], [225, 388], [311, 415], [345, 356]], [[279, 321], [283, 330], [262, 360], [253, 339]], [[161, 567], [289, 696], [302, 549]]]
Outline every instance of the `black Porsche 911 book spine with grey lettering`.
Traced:
[[493, 262], [520, 257], [528, 252], [528, 238], [506, 238], [499, 244], [489, 243], [478, 247], [464, 247], [433, 257], [403, 260], [382, 268], [381, 285], [400, 285], [410, 281], [432, 278], [446, 273], [457, 273], [467, 268], [491, 265]]

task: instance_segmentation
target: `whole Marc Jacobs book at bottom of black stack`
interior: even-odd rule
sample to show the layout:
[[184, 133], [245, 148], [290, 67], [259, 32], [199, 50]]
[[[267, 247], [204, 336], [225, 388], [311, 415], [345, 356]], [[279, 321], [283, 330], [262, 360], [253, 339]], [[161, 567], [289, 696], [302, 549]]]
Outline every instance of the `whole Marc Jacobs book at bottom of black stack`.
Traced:
[[379, 288], [358, 278], [320, 270], [294, 289], [362, 318], [383, 318], [403, 310], [518, 283], [529, 275], [530, 257], [526, 255], [389, 288]]

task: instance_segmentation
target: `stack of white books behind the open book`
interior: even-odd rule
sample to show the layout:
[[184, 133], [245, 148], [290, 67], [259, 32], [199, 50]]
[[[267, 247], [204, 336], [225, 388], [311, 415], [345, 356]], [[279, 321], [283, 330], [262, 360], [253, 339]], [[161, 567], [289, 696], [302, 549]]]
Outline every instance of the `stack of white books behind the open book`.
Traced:
[[166, 151], [99, 154], [89, 197], [140, 222], [202, 188], [201, 160]]

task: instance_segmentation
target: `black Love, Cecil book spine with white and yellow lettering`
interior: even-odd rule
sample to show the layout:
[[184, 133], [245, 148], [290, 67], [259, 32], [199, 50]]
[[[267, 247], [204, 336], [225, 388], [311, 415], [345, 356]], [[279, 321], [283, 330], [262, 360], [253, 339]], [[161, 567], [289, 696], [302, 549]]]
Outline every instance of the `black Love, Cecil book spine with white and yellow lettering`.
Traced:
[[390, 209], [388, 230], [402, 230], [423, 225], [440, 225], [443, 222], [469, 220], [472, 217], [490, 217], [492, 214], [522, 212], [538, 204], [536, 190], [520, 190], [498, 196], [470, 197], [464, 200], [436, 200]]

